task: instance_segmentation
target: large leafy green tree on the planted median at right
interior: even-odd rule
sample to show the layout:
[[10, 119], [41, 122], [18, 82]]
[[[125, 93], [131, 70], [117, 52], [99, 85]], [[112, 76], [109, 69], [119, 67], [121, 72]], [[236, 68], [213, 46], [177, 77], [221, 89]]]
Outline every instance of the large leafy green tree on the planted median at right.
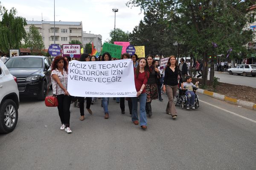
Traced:
[[[252, 40], [252, 31], [244, 29], [248, 20], [246, 9], [249, 3], [246, 1], [130, 0], [127, 5], [149, 11], [154, 3], [166, 6], [174, 40], [183, 41], [191, 52], [196, 51], [203, 57], [202, 85], [207, 85], [209, 55], [227, 54], [231, 48], [232, 54], [246, 52], [244, 45]], [[218, 48], [213, 48], [212, 42]]]

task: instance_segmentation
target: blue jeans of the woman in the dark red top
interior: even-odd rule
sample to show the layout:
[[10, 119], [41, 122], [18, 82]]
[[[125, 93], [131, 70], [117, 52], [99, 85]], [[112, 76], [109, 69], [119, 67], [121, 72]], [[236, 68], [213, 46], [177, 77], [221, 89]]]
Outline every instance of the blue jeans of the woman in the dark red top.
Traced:
[[[140, 102], [140, 126], [147, 125], [147, 115], [146, 115], [146, 101], [147, 101], [147, 94], [143, 93], [139, 96]], [[138, 97], [131, 97], [132, 102], [132, 113], [131, 113], [131, 120], [132, 122], [139, 120], [138, 118]]]

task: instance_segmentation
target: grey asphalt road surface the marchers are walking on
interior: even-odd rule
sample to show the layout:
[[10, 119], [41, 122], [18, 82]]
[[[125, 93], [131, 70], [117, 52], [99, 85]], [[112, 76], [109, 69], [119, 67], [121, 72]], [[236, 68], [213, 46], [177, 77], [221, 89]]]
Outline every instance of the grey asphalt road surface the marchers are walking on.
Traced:
[[145, 131], [131, 122], [128, 107], [122, 115], [112, 99], [110, 119], [103, 118], [100, 102], [84, 121], [72, 106], [71, 134], [59, 130], [57, 108], [23, 100], [16, 129], [0, 135], [0, 169], [255, 170], [256, 111], [199, 98], [196, 111], [177, 107], [176, 120], [165, 113], [166, 95], [164, 102], [153, 101]]

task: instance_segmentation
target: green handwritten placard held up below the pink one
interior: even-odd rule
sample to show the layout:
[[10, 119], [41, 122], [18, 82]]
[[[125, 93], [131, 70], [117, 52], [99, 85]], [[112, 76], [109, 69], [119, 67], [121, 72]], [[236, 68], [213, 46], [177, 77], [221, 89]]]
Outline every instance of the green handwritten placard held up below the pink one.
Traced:
[[122, 46], [104, 42], [102, 47], [102, 54], [104, 54], [105, 52], [108, 52], [112, 58], [120, 59], [122, 54]]

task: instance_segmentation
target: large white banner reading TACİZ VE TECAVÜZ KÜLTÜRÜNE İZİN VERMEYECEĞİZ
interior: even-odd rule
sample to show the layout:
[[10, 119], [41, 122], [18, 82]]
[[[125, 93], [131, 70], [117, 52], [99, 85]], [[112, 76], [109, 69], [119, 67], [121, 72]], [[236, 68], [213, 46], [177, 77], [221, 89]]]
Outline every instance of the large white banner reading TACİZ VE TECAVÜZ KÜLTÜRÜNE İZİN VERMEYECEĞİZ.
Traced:
[[79, 97], [136, 97], [133, 62], [72, 60], [68, 66], [67, 91]]

